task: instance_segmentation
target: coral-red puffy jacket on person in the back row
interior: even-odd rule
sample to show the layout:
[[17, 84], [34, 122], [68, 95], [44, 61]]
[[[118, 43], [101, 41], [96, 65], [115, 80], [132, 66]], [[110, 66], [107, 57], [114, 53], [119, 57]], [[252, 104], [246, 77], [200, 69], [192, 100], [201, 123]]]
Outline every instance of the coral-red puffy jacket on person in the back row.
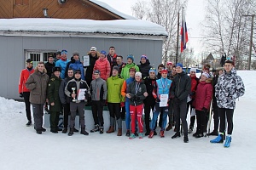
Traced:
[[[111, 68], [110, 68], [110, 64], [108, 62], [108, 59], [105, 57], [105, 58], [99, 58], [96, 60], [96, 63], [93, 67], [93, 71], [96, 71], [96, 70], [99, 70], [101, 71], [101, 78], [105, 81], [107, 81], [108, 77], [110, 76], [110, 71], [111, 71]], [[86, 79], [86, 77], [85, 77]], [[95, 77], [94, 75], [92, 74], [92, 79], [94, 80]]]

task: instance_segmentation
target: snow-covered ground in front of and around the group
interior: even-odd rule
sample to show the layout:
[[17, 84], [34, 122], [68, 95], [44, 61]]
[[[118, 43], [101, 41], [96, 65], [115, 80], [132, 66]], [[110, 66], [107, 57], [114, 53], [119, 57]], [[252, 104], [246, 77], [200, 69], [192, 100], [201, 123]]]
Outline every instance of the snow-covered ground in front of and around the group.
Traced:
[[[214, 137], [127, 139], [116, 133], [35, 133], [26, 127], [23, 102], [0, 98], [0, 169], [256, 169], [256, 71], [238, 71], [246, 94], [236, 103], [230, 148]], [[188, 119], [189, 120], [189, 119]], [[87, 129], [88, 130], [88, 129]], [[106, 130], [106, 129], [105, 129]], [[159, 132], [159, 129], [157, 129]]]

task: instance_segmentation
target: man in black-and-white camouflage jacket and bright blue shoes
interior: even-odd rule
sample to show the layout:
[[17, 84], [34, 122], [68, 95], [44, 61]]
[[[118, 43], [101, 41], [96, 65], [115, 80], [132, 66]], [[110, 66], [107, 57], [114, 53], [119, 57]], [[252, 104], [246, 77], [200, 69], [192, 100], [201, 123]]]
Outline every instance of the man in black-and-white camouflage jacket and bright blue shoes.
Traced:
[[224, 64], [224, 74], [218, 77], [215, 86], [215, 97], [217, 99], [218, 114], [220, 116], [219, 134], [211, 143], [223, 143], [226, 122], [228, 122], [228, 136], [225, 140], [224, 147], [230, 147], [231, 134], [233, 132], [233, 114], [236, 108], [236, 99], [241, 97], [245, 92], [244, 84], [241, 77], [236, 75], [234, 61], [226, 60]]

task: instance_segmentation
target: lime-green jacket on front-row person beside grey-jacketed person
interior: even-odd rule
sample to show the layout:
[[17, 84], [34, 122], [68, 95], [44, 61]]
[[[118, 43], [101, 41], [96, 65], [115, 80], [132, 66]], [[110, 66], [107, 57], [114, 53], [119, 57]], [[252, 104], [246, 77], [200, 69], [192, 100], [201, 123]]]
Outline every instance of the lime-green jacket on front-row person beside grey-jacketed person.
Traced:
[[125, 98], [121, 95], [121, 88], [125, 80], [121, 77], [108, 77], [107, 88], [108, 88], [108, 103], [121, 103], [125, 101]]

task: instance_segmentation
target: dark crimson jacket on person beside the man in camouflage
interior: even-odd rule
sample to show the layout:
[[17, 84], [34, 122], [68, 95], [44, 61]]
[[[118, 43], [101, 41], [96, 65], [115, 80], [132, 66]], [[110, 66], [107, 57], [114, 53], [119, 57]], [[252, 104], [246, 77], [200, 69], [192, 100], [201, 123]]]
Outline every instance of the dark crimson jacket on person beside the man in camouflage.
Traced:
[[202, 111], [203, 108], [209, 110], [212, 100], [212, 79], [206, 82], [199, 82], [195, 91], [195, 110]]

